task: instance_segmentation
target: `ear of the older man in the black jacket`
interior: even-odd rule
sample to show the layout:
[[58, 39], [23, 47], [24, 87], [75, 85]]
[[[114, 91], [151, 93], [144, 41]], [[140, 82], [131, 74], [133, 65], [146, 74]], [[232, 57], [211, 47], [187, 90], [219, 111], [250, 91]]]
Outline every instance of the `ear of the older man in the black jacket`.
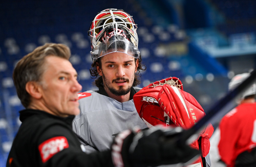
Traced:
[[41, 87], [40, 85], [35, 81], [29, 81], [26, 84], [26, 91], [29, 93], [29, 95], [35, 99], [40, 99], [42, 97], [41, 94]]

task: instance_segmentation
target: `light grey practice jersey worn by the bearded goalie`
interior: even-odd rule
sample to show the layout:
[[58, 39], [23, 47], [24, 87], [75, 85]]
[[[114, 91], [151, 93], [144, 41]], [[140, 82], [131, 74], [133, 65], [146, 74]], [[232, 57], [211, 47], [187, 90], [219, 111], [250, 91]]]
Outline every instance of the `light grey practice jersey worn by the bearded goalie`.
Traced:
[[[132, 88], [132, 97], [139, 90]], [[79, 93], [78, 97], [80, 114], [73, 121], [73, 130], [87, 153], [110, 149], [114, 136], [123, 130], [134, 126], [147, 128], [131, 98], [119, 102], [96, 91]]]

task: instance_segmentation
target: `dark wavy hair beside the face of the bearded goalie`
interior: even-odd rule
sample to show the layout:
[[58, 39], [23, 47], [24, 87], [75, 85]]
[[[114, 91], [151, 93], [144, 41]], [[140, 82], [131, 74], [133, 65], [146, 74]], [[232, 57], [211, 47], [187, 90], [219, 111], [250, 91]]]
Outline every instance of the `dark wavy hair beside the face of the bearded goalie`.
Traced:
[[[101, 69], [101, 58], [97, 59], [95, 62], [92, 63], [92, 67], [90, 68], [90, 73], [91, 73], [91, 78], [97, 78], [94, 81], [94, 84], [96, 85], [96, 87], [103, 87], [103, 79], [102, 76], [99, 75], [98, 71], [97, 71], [97, 66], [99, 66], [99, 68]], [[139, 65], [137, 68], [137, 72], [135, 73], [135, 77], [134, 77], [134, 81], [133, 81], [133, 87], [136, 87], [137, 85], [139, 85], [140, 82], [140, 77], [141, 77], [141, 72], [146, 70], [146, 66], [142, 64], [142, 59], [141, 59], [141, 54], [139, 56], [138, 59], [134, 58], [135, 62], [138, 60], [139, 61]]]

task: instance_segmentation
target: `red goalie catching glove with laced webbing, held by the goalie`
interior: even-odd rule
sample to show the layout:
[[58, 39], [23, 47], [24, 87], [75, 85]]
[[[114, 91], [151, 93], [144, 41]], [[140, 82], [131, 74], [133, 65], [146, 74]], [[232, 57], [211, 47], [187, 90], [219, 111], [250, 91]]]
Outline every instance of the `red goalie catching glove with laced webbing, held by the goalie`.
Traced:
[[[189, 129], [205, 115], [198, 101], [183, 91], [182, 83], [176, 77], [162, 79], [144, 87], [133, 99], [140, 118], [149, 128], [162, 124]], [[213, 132], [214, 128], [209, 124], [198, 140], [191, 144], [191, 147], [200, 147], [203, 157], [209, 153], [209, 138]]]

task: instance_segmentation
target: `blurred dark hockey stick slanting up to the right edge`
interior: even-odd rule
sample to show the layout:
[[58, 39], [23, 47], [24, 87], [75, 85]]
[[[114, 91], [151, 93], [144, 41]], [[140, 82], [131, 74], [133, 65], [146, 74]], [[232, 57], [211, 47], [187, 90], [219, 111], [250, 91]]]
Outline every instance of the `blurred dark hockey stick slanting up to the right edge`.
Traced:
[[245, 79], [237, 88], [229, 91], [226, 96], [218, 100], [209, 110], [206, 115], [198, 121], [193, 127], [188, 130], [184, 130], [179, 136], [179, 141], [182, 143], [190, 143], [194, 141], [200, 132], [207, 124], [211, 123], [215, 125], [221, 118], [227, 114], [237, 104], [235, 99], [248, 87], [250, 87], [256, 80], [256, 70], [251, 72], [251, 75]]

